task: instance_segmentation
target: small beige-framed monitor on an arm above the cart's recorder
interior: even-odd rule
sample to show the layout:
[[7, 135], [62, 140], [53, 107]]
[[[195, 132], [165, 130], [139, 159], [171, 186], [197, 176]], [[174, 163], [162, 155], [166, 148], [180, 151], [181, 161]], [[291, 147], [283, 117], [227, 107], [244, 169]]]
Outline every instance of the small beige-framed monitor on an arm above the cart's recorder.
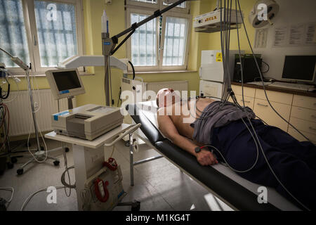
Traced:
[[48, 70], [46, 78], [55, 100], [86, 93], [77, 69]]

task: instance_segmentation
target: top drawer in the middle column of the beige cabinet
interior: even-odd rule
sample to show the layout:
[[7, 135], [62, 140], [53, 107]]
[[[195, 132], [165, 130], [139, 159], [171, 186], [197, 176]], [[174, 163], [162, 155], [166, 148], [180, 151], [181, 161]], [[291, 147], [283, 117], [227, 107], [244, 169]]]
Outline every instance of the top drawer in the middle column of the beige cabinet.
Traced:
[[[270, 101], [275, 101], [277, 103], [284, 103], [287, 105], [292, 104], [293, 94], [287, 94], [277, 91], [267, 91], [267, 95]], [[265, 91], [262, 89], [256, 89], [256, 98], [266, 100]]]

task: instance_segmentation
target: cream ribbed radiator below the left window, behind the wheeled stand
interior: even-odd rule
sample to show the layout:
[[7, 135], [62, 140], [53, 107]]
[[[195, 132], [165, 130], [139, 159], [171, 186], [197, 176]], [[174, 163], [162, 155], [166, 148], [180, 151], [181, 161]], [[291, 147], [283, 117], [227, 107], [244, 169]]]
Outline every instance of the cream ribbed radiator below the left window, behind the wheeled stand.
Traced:
[[[16, 98], [15, 98], [16, 96]], [[41, 131], [51, 131], [51, 115], [58, 113], [58, 102], [53, 99], [51, 89], [35, 90], [33, 92], [34, 102], [39, 105], [39, 111], [36, 113], [37, 124]], [[11, 101], [14, 99], [14, 101]], [[11, 101], [11, 102], [8, 102]], [[10, 113], [9, 136], [20, 136], [34, 133], [34, 124], [32, 119], [31, 103], [29, 101], [28, 91], [11, 91], [6, 105]], [[67, 98], [60, 99], [60, 111], [67, 110]], [[76, 101], [73, 98], [73, 105], [76, 107]]]

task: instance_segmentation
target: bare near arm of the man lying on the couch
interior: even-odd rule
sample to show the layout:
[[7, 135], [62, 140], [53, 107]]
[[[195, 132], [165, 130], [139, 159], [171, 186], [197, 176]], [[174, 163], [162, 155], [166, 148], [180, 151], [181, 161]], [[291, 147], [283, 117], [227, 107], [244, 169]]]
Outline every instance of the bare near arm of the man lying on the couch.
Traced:
[[195, 153], [195, 148], [198, 146], [190, 139], [187, 139], [185, 136], [178, 133], [176, 126], [173, 124], [168, 115], [159, 115], [158, 113], [157, 120], [160, 131], [162, 131], [168, 139], [176, 144], [176, 146], [186, 150], [191, 155], [195, 155], [199, 164], [206, 166], [218, 163], [209, 150], [202, 149], [201, 152]]

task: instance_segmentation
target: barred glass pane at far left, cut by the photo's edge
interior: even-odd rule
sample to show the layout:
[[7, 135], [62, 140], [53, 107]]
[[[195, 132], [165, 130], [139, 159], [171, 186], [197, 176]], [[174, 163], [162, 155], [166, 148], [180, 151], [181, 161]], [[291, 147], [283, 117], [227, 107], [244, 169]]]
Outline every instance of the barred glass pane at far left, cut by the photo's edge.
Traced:
[[[29, 63], [29, 49], [21, 0], [0, 0], [0, 46], [25, 63]], [[0, 52], [0, 62], [6, 67], [18, 67]]]

